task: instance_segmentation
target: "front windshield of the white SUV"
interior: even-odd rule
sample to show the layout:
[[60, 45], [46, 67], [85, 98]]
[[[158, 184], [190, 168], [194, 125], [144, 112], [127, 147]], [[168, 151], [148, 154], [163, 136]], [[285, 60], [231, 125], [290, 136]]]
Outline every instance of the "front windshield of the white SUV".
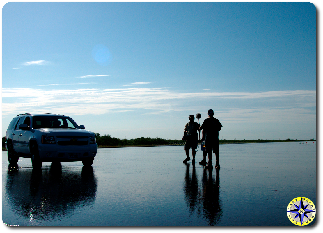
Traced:
[[35, 116], [33, 128], [78, 128], [78, 125], [69, 117], [64, 116]]

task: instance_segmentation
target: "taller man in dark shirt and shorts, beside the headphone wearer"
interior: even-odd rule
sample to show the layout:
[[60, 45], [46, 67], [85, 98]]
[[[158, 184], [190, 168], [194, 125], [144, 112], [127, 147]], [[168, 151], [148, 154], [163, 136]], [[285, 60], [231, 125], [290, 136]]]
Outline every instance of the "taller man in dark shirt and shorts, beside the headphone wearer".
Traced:
[[207, 168], [207, 169], [213, 168], [212, 150], [213, 150], [213, 152], [215, 154], [215, 158], [216, 158], [215, 168], [220, 168], [220, 164], [219, 164], [219, 158], [220, 158], [219, 131], [221, 130], [222, 125], [218, 119], [213, 117], [214, 112], [212, 109], [207, 111], [207, 114], [209, 115], [209, 117], [203, 121], [203, 124], [200, 127], [200, 130], [203, 130], [202, 141], [205, 140], [205, 148], [208, 153], [208, 159], [209, 159], [209, 162], [207, 163], [206, 166], [204, 166], [204, 168]]

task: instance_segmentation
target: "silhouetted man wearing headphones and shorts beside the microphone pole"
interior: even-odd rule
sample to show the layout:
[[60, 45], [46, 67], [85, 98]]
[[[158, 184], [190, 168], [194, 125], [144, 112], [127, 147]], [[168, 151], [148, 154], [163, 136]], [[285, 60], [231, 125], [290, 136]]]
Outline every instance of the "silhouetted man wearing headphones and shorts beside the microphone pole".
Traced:
[[188, 119], [190, 122], [186, 123], [184, 128], [184, 135], [183, 138], [186, 135], [186, 142], [184, 145], [184, 150], [186, 153], [186, 159], [183, 161], [183, 163], [186, 163], [187, 161], [190, 161], [190, 149], [192, 147], [192, 155], [193, 160], [192, 163], [195, 163], [195, 150], [197, 148], [197, 141], [198, 141], [198, 134], [197, 131], [200, 131], [200, 124], [195, 122], [195, 117], [193, 115], [189, 115]]

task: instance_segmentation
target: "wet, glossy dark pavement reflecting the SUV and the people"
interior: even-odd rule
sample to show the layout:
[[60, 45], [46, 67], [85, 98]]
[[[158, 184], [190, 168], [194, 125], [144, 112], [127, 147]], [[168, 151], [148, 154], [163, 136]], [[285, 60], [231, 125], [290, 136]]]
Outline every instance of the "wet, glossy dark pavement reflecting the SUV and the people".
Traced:
[[3, 221], [19, 226], [293, 226], [286, 214], [292, 199], [302, 195], [316, 204], [314, 145], [220, 145], [220, 170], [198, 164], [202, 151], [196, 164], [182, 163], [184, 158], [183, 146], [107, 148], [98, 150], [90, 168], [62, 162], [35, 170], [30, 159], [9, 165], [3, 152]]

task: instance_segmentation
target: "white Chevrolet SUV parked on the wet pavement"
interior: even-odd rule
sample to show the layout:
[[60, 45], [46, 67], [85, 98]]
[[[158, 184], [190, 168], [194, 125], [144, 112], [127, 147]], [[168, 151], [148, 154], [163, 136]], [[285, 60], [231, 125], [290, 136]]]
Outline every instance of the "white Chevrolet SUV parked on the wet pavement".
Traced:
[[34, 168], [54, 161], [82, 161], [91, 166], [98, 151], [94, 133], [64, 114], [19, 114], [10, 122], [5, 138], [9, 163], [31, 158]]

